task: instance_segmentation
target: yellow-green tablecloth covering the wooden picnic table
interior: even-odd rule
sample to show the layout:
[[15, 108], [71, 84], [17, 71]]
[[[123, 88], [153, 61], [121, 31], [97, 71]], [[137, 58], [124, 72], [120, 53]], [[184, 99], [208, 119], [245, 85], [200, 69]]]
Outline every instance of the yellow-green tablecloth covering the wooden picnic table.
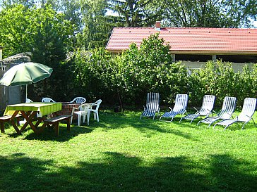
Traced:
[[49, 115], [61, 110], [61, 103], [20, 103], [8, 105], [4, 111], [4, 115], [13, 115], [16, 110], [37, 111], [40, 115]]

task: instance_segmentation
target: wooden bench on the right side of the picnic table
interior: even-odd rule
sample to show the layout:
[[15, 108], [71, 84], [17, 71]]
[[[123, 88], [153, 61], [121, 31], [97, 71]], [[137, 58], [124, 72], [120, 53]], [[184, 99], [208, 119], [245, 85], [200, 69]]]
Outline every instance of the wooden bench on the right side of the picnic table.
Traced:
[[57, 117], [52, 117], [51, 119], [48, 119], [48, 120], [44, 120], [42, 129], [44, 129], [46, 125], [48, 127], [51, 127], [50, 125], [52, 124], [52, 126], [54, 127], [54, 132], [56, 136], [59, 136], [59, 123], [64, 120], [66, 120], [66, 123], [67, 123], [67, 130], [71, 131], [71, 115], [60, 115]]

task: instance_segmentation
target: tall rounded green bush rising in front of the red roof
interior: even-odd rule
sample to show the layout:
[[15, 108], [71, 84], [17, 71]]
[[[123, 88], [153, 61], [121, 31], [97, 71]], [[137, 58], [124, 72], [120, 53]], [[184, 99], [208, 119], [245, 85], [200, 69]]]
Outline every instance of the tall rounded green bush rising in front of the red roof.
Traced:
[[169, 103], [177, 93], [187, 91], [187, 73], [180, 63], [172, 63], [169, 45], [159, 34], [153, 34], [143, 39], [140, 49], [136, 44], [121, 54], [119, 75], [121, 77], [120, 91], [128, 103], [139, 105], [145, 100], [146, 93], [159, 92], [162, 101]]

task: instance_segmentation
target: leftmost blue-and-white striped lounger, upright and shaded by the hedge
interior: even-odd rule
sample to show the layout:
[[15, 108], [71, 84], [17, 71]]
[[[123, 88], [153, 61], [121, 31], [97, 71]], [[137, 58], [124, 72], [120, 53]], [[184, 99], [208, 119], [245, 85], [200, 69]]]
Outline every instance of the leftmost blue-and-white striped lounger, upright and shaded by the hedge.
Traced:
[[160, 113], [159, 101], [160, 101], [159, 93], [152, 93], [152, 92], [148, 93], [146, 95], [146, 107], [143, 106], [143, 113], [141, 114], [140, 119], [142, 120], [142, 117], [153, 117], [153, 120], [154, 120], [155, 113], [158, 113], [158, 114]]

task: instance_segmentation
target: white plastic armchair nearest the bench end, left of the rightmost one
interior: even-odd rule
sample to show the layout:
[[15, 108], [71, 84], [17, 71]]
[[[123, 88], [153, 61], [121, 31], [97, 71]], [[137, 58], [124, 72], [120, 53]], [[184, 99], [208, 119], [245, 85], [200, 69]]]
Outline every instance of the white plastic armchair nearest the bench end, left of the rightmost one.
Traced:
[[88, 103], [81, 104], [78, 108], [73, 108], [71, 112], [71, 124], [73, 120], [73, 115], [76, 114], [78, 115], [78, 126], [80, 126], [81, 117], [83, 117], [83, 122], [85, 122], [86, 116], [88, 116], [88, 125], [89, 125], [89, 114], [90, 114], [89, 108], [90, 108], [90, 104]]

